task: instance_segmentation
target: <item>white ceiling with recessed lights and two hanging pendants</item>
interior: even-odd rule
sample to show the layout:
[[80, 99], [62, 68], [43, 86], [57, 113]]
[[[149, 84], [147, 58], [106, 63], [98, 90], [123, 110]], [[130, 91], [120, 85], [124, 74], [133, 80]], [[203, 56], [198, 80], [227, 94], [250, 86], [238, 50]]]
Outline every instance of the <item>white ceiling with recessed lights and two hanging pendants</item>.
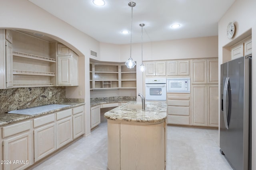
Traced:
[[[92, 0], [29, 0], [80, 31], [104, 43], [129, 44], [132, 8], [132, 43], [208, 37], [218, 35], [218, 21], [235, 0], [105, 0], [95, 6]], [[178, 29], [170, 28], [180, 23]]]

